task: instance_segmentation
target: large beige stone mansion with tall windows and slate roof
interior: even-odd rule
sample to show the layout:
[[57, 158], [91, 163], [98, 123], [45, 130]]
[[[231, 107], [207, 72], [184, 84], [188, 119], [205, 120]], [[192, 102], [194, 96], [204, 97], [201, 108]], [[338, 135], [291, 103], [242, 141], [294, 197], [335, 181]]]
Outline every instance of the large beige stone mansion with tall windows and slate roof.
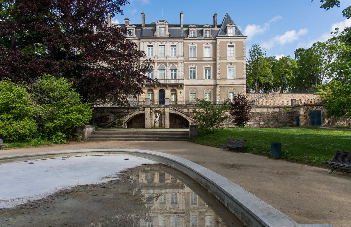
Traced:
[[[158, 79], [161, 84], [143, 84], [143, 95], [138, 101], [150, 98], [153, 104], [195, 101], [196, 98], [220, 100], [234, 94], [245, 93], [245, 39], [230, 15], [227, 13], [220, 25], [217, 13], [213, 24], [193, 25], [169, 24], [165, 20], [145, 24], [141, 12], [141, 24], [112, 24], [111, 16], [106, 18], [107, 26], [127, 28], [129, 39], [145, 51], [154, 64], [147, 76]], [[133, 100], [130, 97], [130, 101]]]

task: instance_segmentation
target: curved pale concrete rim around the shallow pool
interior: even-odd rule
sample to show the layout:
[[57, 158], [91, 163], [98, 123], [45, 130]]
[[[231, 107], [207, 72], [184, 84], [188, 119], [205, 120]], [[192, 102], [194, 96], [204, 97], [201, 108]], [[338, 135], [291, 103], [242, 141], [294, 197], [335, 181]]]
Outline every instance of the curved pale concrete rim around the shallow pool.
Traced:
[[247, 227], [333, 227], [330, 224], [299, 224], [227, 178], [184, 158], [157, 151], [137, 149], [81, 149], [0, 156], [0, 163], [36, 157], [130, 154], [172, 166], [213, 194]]

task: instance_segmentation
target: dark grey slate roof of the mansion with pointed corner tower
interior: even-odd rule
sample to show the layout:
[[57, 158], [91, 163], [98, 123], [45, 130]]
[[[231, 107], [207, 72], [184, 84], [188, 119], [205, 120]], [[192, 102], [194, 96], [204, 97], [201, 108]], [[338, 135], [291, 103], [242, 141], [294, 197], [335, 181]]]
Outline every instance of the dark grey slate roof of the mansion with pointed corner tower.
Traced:
[[[228, 13], [225, 14], [225, 17], [220, 25], [217, 25], [216, 28], [211, 26], [211, 37], [216, 37], [216, 36], [226, 36], [227, 33], [227, 24], [234, 23], [232, 18]], [[126, 28], [127, 26], [123, 23], [119, 24], [112, 24], [113, 25], [119, 25], [122, 28]], [[145, 27], [141, 27], [141, 24], [131, 24], [135, 26], [135, 36], [136, 37], [153, 37], [154, 33], [156, 31], [156, 25], [155, 24], [145, 24]], [[169, 24], [168, 25], [168, 33], [170, 34], [170, 37], [188, 37], [189, 35], [189, 26], [190, 25], [183, 25], [183, 28], [180, 27], [180, 24]], [[205, 25], [195, 25], [197, 27], [197, 36], [198, 37], [203, 37], [203, 27]], [[142, 30], [142, 32], [141, 32]], [[182, 30], [183, 30], [183, 36], [182, 36]], [[243, 33], [240, 32], [239, 28], [235, 26], [235, 31], [234, 31], [236, 36], [244, 36]], [[142, 36], [141, 36], [142, 34]]]

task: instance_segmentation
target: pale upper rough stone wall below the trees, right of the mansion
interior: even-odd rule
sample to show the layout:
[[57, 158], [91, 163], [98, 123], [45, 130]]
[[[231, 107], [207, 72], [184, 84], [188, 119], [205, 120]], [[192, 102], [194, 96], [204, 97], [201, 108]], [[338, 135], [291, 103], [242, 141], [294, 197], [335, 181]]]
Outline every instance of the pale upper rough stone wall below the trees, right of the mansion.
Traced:
[[303, 98], [320, 98], [320, 95], [315, 95], [313, 93], [278, 93], [272, 92], [269, 94], [247, 94], [249, 99], [256, 99], [261, 97], [258, 100], [265, 100], [265, 101], [291, 101], [291, 99], [296, 98], [303, 99]]

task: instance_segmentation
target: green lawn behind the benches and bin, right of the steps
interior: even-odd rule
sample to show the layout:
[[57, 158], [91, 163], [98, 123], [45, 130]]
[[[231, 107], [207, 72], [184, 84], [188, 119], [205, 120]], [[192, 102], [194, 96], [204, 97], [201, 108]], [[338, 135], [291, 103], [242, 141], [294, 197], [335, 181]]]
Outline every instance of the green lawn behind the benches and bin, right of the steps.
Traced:
[[321, 164], [332, 160], [338, 150], [351, 151], [351, 131], [321, 129], [316, 127], [292, 128], [225, 128], [216, 134], [199, 132], [192, 142], [220, 146], [228, 138], [246, 139], [244, 152], [270, 157], [271, 143], [282, 144], [282, 158], [288, 161], [302, 161]]

